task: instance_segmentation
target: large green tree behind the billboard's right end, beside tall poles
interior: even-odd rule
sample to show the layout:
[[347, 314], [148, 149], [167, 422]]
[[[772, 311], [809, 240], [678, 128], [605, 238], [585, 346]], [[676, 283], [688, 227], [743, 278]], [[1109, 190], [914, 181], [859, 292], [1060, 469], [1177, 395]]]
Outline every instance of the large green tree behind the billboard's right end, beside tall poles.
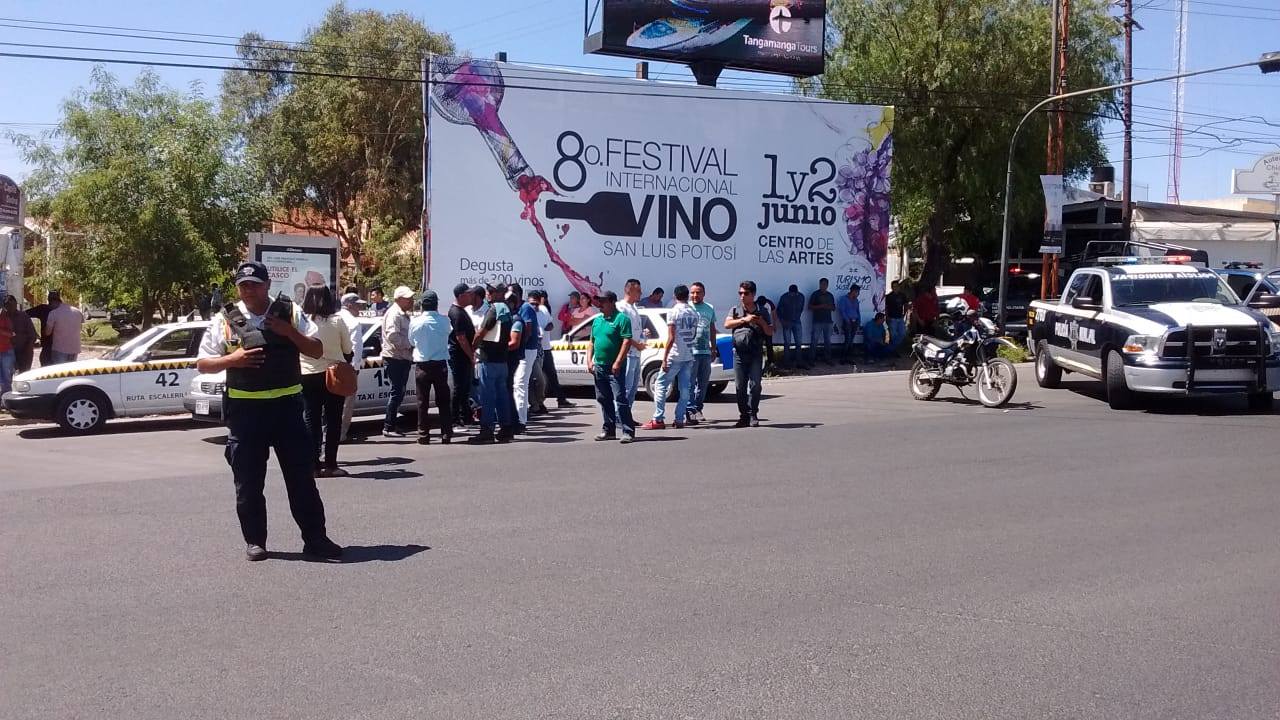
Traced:
[[[1116, 82], [1119, 26], [1103, 0], [1071, 4], [1068, 87]], [[817, 92], [896, 105], [893, 214], [899, 237], [924, 251], [922, 283], [938, 281], [954, 250], [991, 255], [1000, 243], [1005, 163], [1018, 119], [1047, 95], [1051, 18], [1043, 0], [837, 0], [835, 50]], [[1108, 95], [1075, 100], [1066, 174], [1105, 159], [1100, 114]], [[1015, 155], [1014, 227], [1039, 237], [1047, 114], [1028, 120]], [[1037, 140], [1038, 138], [1038, 140]]]

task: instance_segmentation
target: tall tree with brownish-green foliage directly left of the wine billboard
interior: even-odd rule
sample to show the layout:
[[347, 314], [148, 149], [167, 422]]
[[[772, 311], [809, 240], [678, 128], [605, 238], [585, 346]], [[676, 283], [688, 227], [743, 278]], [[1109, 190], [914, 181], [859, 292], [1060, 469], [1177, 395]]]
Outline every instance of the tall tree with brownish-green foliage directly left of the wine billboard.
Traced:
[[248, 33], [238, 53], [241, 67], [266, 72], [228, 72], [223, 104], [287, 213], [278, 222], [335, 233], [362, 274], [375, 225], [420, 224], [420, 59], [452, 54], [453, 41], [411, 15], [339, 3], [297, 47]]

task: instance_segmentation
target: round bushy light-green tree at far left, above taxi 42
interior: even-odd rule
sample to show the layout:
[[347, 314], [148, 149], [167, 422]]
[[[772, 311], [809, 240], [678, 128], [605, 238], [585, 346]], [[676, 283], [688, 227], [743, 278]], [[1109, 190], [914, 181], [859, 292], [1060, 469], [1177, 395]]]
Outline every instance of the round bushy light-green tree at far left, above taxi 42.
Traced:
[[[60, 143], [52, 142], [54, 140]], [[228, 123], [198, 95], [143, 70], [129, 87], [95, 68], [52, 137], [19, 137], [31, 211], [58, 238], [55, 275], [104, 306], [173, 309], [227, 277], [268, 215]]]

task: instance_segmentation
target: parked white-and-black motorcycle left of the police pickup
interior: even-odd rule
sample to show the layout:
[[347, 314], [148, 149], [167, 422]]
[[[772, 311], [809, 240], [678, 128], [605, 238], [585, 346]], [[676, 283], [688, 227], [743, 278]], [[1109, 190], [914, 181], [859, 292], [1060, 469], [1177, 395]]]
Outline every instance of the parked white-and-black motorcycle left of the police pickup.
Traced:
[[915, 364], [908, 387], [915, 400], [933, 400], [942, 384], [977, 386], [978, 402], [1000, 407], [1018, 389], [1018, 370], [1000, 357], [1001, 345], [1018, 346], [1000, 337], [996, 323], [969, 313], [954, 324], [955, 340], [918, 336], [911, 346]]

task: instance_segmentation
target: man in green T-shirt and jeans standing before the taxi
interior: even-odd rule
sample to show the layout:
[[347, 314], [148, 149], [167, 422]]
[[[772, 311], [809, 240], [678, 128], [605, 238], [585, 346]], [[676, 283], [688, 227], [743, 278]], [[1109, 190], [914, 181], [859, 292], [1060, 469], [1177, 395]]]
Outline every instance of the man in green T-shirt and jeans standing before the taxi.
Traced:
[[595, 401], [604, 418], [603, 432], [595, 439], [617, 439], [617, 427], [622, 425], [622, 442], [636, 437], [636, 424], [631, 418], [631, 404], [626, 395], [627, 350], [631, 348], [631, 319], [618, 313], [618, 295], [605, 291], [595, 296], [600, 314], [591, 322], [591, 343], [586, 356], [595, 379]]

